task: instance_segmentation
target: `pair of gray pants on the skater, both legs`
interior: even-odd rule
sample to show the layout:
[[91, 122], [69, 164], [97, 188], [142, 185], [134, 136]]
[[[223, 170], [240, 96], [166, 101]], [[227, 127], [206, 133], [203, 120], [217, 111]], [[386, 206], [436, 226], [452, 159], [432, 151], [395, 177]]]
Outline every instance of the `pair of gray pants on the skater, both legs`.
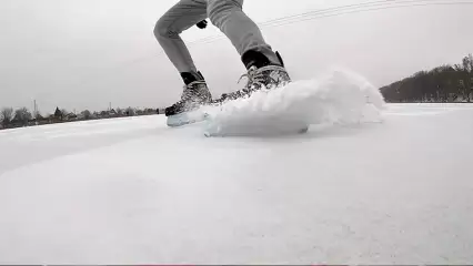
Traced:
[[179, 72], [197, 72], [192, 57], [179, 34], [207, 18], [230, 39], [240, 55], [256, 50], [271, 62], [279, 63], [258, 25], [243, 12], [242, 6], [243, 0], [180, 0], [158, 21], [154, 35]]

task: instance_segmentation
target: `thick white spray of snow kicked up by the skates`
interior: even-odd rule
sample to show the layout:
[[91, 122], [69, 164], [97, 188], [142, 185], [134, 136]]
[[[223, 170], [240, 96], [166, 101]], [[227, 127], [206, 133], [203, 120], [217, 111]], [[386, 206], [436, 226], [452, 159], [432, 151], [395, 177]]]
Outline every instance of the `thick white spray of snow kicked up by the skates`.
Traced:
[[278, 135], [308, 125], [380, 122], [384, 104], [380, 91], [363, 76], [333, 69], [312, 80], [209, 108], [205, 131], [208, 135]]

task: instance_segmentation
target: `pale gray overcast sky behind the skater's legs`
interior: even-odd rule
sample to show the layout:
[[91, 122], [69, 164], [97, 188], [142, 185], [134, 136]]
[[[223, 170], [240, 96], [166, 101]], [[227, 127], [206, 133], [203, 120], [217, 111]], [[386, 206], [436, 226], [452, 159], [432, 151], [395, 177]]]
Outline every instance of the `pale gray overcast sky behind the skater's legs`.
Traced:
[[[456, 0], [445, 0], [454, 2]], [[42, 113], [112, 106], [163, 108], [182, 82], [153, 35], [177, 0], [1, 0], [0, 106]], [[245, 0], [258, 23], [359, 0]], [[293, 79], [332, 65], [350, 68], [375, 85], [422, 69], [457, 63], [473, 52], [473, 6], [390, 9], [262, 28]], [[221, 35], [193, 27], [185, 41]], [[244, 73], [227, 39], [190, 48], [217, 96], [239, 88]], [[241, 85], [240, 85], [241, 86]]]

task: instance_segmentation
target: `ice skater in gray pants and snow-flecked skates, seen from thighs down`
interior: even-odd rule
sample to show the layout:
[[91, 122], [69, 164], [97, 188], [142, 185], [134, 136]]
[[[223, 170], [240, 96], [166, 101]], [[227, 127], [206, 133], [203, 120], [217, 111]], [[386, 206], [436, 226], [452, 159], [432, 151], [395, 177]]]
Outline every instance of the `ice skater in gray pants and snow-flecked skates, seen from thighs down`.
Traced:
[[225, 94], [227, 99], [239, 98], [262, 85], [269, 89], [290, 81], [280, 54], [264, 41], [242, 6], [243, 0], [180, 0], [159, 19], [154, 35], [184, 82], [181, 100], [165, 109], [167, 116], [212, 102], [205, 80], [180, 38], [181, 32], [194, 24], [204, 29], [208, 18], [230, 39], [248, 71], [244, 89]]

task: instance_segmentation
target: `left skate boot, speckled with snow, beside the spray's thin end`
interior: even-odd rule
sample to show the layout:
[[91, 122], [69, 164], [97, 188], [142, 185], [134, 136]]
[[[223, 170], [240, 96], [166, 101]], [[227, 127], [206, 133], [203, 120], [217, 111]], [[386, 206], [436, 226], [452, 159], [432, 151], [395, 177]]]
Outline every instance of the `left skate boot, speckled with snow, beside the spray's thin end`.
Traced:
[[199, 117], [193, 117], [193, 115], [188, 113], [212, 101], [212, 94], [200, 72], [185, 72], [181, 73], [181, 76], [185, 83], [181, 100], [167, 108], [164, 112], [165, 116], [168, 116], [168, 125], [170, 126], [179, 126], [199, 121]]

